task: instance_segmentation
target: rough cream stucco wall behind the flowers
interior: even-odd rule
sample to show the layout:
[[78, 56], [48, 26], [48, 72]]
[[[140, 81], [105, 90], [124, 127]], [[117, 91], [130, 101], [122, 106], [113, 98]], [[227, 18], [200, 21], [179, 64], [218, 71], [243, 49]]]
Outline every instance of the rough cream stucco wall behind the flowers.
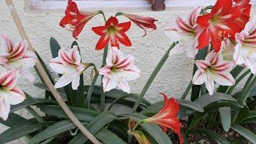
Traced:
[[[58, 26], [58, 22], [63, 17], [64, 10], [56, 11], [37, 11], [29, 10], [23, 0], [14, 1], [14, 5], [18, 10], [18, 14], [22, 20], [23, 26], [30, 38], [34, 49], [42, 56], [45, 62], [49, 62], [51, 59], [49, 39], [54, 37], [58, 40], [60, 45], [66, 49], [69, 49], [71, 43], [74, 41], [69, 31], [62, 29]], [[142, 87], [145, 85], [147, 78], [149, 78], [151, 72], [154, 70], [154, 66], [157, 65], [162, 55], [165, 54], [169, 48], [171, 42], [164, 30], [167, 26], [174, 26], [174, 18], [180, 14], [185, 16], [192, 8], [167, 8], [162, 12], [153, 12], [149, 10], [126, 10], [125, 12], [142, 14], [158, 19], [156, 23], [158, 30], [150, 32], [146, 37], [142, 37], [143, 31], [138, 29], [137, 26], [127, 32], [132, 47], [121, 46], [123, 53], [133, 54], [136, 58], [136, 66], [142, 71], [141, 77], [135, 81], [130, 82], [131, 92], [139, 93]], [[134, 12], [135, 11], [135, 12]], [[115, 10], [105, 10], [106, 16], [115, 14]], [[127, 19], [122, 18], [120, 21], [125, 22]], [[18, 30], [14, 25], [13, 19], [10, 16], [9, 10], [4, 0], [0, 1], [0, 34], [7, 34], [10, 38], [14, 38], [15, 41], [20, 40]], [[94, 62], [98, 67], [102, 62], [102, 51], [94, 50], [95, 44], [98, 42], [98, 35], [94, 34], [91, 29], [92, 26], [102, 26], [103, 20], [101, 16], [93, 18], [83, 30], [82, 34], [78, 38], [78, 44], [82, 50], [83, 62]], [[150, 102], [162, 100], [162, 97], [158, 94], [164, 92], [171, 97], [179, 98], [182, 92], [185, 90], [186, 85], [190, 82], [192, 76], [191, 70], [193, 68], [193, 59], [187, 58], [186, 54], [178, 54], [173, 58], [169, 58], [162, 70], [159, 72], [157, 78], [155, 78], [153, 84], [150, 86], [150, 90], [146, 93], [146, 99]], [[87, 70], [88, 73], [90, 70]], [[35, 74], [35, 72], [34, 72]], [[90, 82], [89, 74], [85, 74], [86, 82]], [[37, 78], [37, 82], [40, 80]], [[23, 90], [28, 92], [34, 97], [43, 96], [43, 91], [34, 87], [29, 82], [19, 82]], [[24, 117], [30, 117], [26, 110], [21, 110]], [[6, 126], [0, 125], [0, 133], [6, 130]], [[16, 141], [17, 143], [25, 143], [24, 139]]]

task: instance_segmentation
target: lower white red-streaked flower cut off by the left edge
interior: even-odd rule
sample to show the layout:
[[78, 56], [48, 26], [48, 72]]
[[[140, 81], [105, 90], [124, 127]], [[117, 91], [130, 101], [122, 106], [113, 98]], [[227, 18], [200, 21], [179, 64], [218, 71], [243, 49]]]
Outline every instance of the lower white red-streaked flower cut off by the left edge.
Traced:
[[16, 86], [18, 70], [0, 72], [0, 117], [6, 121], [10, 113], [10, 105], [17, 105], [25, 100], [26, 96]]

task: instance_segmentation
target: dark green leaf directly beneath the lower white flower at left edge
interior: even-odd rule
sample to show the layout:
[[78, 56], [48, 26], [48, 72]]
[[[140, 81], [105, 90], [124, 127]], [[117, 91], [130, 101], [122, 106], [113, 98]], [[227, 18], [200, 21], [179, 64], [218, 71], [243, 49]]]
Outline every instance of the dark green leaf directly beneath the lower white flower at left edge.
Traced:
[[10, 113], [9, 117], [6, 121], [3, 121], [2, 118], [0, 118], [0, 123], [2, 123], [5, 126], [14, 126], [20, 122], [26, 121], [26, 118], [23, 118], [22, 116], [15, 114], [15, 113]]

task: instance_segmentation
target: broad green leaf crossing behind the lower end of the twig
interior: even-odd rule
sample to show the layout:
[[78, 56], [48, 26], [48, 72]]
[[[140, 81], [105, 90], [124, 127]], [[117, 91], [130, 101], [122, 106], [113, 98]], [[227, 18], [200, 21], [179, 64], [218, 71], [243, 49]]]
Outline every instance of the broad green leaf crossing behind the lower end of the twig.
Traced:
[[[90, 131], [91, 134], [96, 134], [99, 130], [102, 129], [103, 126], [106, 126], [106, 124], [114, 121], [117, 119], [114, 113], [110, 111], [104, 111], [101, 114], [98, 114], [96, 118], [94, 118], [93, 121], [91, 121], [86, 128]], [[86, 138], [82, 133], [79, 133], [77, 136], [75, 136], [69, 144], [74, 143], [85, 143], [89, 139]]]

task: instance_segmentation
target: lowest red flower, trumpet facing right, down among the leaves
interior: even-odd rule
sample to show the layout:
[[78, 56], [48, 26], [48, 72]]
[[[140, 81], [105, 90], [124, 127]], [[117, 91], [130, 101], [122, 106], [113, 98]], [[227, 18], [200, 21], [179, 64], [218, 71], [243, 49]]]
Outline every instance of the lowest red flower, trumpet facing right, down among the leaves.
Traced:
[[[162, 94], [162, 93], [160, 93]], [[142, 120], [142, 123], [154, 123], [161, 126], [163, 131], [167, 131], [167, 129], [174, 130], [176, 134], [178, 134], [179, 142], [183, 143], [182, 134], [180, 132], [181, 122], [179, 122], [177, 118], [179, 104], [176, 102], [174, 98], [168, 99], [166, 94], [162, 94], [165, 98], [165, 103], [162, 107], [162, 110], [155, 114], [150, 118], [146, 118]]]

